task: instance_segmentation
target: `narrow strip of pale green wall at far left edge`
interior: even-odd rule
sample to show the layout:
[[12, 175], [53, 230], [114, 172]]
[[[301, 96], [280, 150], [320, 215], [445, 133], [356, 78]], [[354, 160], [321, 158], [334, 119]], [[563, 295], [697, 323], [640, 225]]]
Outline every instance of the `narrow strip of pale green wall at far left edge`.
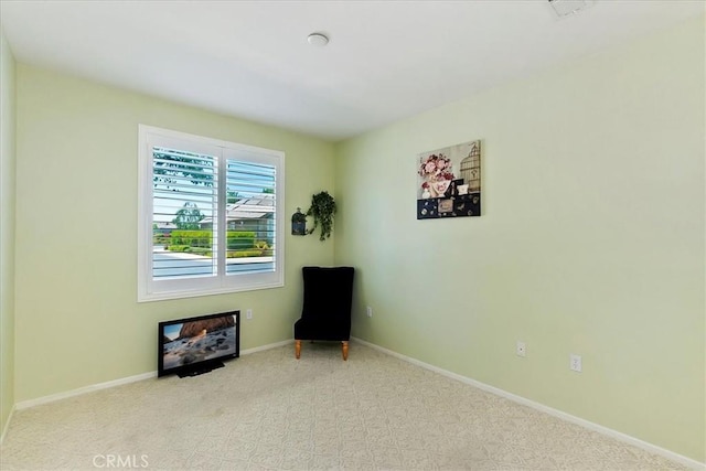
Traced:
[[0, 30], [0, 433], [14, 404], [14, 58]]

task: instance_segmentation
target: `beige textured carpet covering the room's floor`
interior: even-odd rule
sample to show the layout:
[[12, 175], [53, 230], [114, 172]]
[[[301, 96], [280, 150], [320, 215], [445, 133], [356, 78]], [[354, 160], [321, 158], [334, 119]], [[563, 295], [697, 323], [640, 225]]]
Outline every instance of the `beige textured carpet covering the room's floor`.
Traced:
[[685, 469], [359, 343], [347, 362], [287, 345], [18, 410], [0, 468]]

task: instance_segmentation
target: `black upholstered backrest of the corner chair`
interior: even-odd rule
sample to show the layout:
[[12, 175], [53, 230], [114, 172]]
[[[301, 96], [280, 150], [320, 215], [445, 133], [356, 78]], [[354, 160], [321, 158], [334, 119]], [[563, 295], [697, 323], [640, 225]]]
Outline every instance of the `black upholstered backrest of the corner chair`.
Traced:
[[353, 267], [303, 267], [302, 319], [339, 318], [351, 322]]

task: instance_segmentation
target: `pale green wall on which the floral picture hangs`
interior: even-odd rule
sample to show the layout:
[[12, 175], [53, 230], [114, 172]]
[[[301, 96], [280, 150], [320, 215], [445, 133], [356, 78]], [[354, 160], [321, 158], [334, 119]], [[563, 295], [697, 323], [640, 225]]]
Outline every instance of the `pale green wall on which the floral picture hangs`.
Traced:
[[[704, 20], [338, 146], [353, 334], [703, 462]], [[483, 215], [417, 221], [475, 139]]]

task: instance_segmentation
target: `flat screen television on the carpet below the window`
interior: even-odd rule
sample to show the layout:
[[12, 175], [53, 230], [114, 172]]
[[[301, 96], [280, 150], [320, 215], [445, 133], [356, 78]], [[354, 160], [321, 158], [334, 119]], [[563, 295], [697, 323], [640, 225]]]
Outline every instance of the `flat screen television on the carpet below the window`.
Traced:
[[158, 324], [157, 376], [195, 376], [240, 355], [240, 311], [162, 321]]

